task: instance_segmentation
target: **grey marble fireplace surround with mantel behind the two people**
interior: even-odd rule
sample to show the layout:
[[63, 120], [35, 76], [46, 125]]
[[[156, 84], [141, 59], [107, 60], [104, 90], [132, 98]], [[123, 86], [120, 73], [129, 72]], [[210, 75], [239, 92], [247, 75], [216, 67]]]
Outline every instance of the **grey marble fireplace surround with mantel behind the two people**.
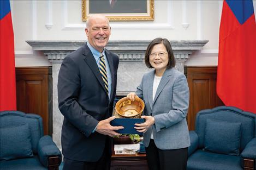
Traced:
[[[26, 41], [34, 51], [41, 51], [52, 64], [52, 122], [53, 141], [61, 148], [61, 128], [63, 115], [58, 109], [58, 72], [65, 56], [84, 45], [85, 41]], [[176, 59], [176, 69], [184, 72], [184, 62], [189, 55], [200, 51], [207, 40], [170, 41]], [[106, 47], [120, 58], [117, 73], [117, 95], [127, 95], [135, 91], [142, 75], [149, 71], [144, 64], [144, 53], [150, 41], [109, 41]]]

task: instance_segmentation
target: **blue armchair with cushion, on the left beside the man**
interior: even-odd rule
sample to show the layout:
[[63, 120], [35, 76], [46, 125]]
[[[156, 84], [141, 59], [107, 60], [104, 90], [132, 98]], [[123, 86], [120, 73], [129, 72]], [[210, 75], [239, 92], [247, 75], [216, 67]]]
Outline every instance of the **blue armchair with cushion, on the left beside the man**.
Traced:
[[39, 115], [0, 112], [0, 169], [58, 169], [62, 155]]

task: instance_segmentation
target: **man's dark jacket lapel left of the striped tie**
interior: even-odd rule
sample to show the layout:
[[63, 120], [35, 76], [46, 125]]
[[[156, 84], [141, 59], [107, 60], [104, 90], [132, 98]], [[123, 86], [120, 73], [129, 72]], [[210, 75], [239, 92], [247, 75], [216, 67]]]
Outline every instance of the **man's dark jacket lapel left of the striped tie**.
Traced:
[[102, 88], [106, 92], [106, 88], [105, 88], [105, 85], [104, 85], [104, 82], [103, 82], [103, 79], [102, 79], [102, 75], [99, 72], [99, 67], [98, 67], [98, 65], [97, 65], [97, 63], [94, 59], [94, 56], [93, 56], [92, 52], [90, 51], [90, 49], [88, 48], [87, 45], [85, 45], [85, 51], [84, 51], [83, 55], [85, 56], [85, 58], [84, 58], [85, 62], [91, 68], [93, 74], [95, 75], [95, 77], [99, 81], [99, 84], [102, 86]]

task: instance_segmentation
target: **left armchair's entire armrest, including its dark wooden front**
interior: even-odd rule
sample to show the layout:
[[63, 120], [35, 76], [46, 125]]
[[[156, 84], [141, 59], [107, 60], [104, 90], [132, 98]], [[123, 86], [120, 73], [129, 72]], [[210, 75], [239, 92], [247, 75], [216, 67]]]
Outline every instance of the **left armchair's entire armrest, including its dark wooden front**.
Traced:
[[51, 167], [61, 163], [62, 155], [56, 144], [52, 141], [51, 136], [43, 136], [40, 138], [37, 146], [38, 157], [45, 167]]

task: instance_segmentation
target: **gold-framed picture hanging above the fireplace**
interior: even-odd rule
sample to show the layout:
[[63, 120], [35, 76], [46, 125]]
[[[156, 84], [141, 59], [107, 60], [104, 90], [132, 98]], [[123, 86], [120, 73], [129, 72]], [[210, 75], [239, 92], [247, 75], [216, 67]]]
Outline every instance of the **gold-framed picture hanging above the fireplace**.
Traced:
[[[114, 5], [110, 4], [115, 2]], [[153, 0], [82, 0], [82, 21], [95, 14], [103, 14], [110, 21], [152, 21]], [[98, 12], [100, 11], [100, 12]]]

